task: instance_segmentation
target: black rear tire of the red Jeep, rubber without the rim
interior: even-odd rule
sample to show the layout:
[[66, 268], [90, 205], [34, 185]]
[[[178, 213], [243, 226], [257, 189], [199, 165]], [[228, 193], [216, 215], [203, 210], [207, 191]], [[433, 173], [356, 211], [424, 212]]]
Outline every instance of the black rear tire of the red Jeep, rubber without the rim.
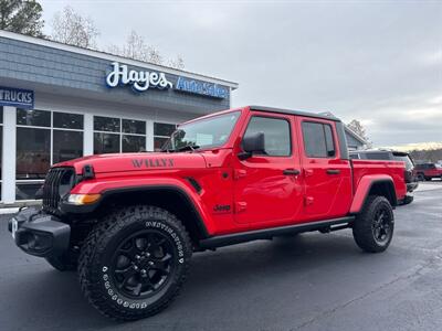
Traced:
[[[389, 217], [390, 233], [385, 241], [378, 241], [375, 234], [375, 218], [379, 211], [385, 211]], [[368, 196], [362, 211], [352, 225], [352, 236], [356, 244], [367, 253], [380, 253], [388, 248], [394, 231], [394, 216], [390, 202], [385, 196]]]

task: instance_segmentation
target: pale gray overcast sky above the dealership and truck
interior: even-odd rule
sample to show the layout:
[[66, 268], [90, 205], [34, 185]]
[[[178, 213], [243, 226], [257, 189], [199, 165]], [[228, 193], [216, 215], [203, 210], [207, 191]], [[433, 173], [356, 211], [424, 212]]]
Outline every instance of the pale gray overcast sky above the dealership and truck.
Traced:
[[50, 1], [99, 45], [131, 29], [186, 68], [238, 82], [233, 106], [333, 111], [376, 146], [442, 143], [442, 1]]

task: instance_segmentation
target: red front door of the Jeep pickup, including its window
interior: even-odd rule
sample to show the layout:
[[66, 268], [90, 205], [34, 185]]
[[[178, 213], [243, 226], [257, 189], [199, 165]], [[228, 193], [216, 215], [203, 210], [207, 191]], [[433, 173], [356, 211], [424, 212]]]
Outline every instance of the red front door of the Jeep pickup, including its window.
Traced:
[[252, 111], [242, 136], [256, 132], [264, 134], [265, 152], [245, 160], [234, 158], [235, 222], [251, 228], [293, 223], [302, 210], [294, 117]]

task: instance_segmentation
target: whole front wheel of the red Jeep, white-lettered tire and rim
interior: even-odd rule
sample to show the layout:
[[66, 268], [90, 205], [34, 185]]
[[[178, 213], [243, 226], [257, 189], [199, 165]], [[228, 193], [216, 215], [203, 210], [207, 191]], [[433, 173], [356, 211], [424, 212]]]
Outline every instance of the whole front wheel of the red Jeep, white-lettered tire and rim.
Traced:
[[136, 320], [165, 309], [189, 270], [192, 246], [179, 220], [155, 206], [130, 206], [103, 220], [80, 257], [88, 301], [115, 320]]

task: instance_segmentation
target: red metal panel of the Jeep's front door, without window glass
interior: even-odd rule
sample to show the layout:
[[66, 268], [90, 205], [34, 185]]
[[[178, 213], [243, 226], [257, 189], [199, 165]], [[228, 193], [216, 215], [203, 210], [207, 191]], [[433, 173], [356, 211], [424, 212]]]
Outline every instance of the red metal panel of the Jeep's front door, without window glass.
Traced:
[[[256, 116], [269, 118], [269, 115], [251, 113], [250, 119]], [[270, 118], [287, 121], [290, 134], [294, 136], [293, 116], [272, 115]], [[246, 132], [250, 119], [241, 137]], [[275, 137], [272, 135], [265, 136], [266, 143], [272, 145], [273, 138]], [[283, 142], [274, 141], [274, 143]], [[296, 222], [303, 207], [303, 185], [302, 177], [293, 171], [301, 171], [298, 156], [294, 153], [294, 146], [297, 145], [294, 137], [291, 138], [291, 145], [290, 156], [260, 154], [246, 160], [234, 158], [235, 222], [250, 224], [251, 228]], [[236, 149], [236, 152], [239, 151], [241, 151], [240, 146]]]

